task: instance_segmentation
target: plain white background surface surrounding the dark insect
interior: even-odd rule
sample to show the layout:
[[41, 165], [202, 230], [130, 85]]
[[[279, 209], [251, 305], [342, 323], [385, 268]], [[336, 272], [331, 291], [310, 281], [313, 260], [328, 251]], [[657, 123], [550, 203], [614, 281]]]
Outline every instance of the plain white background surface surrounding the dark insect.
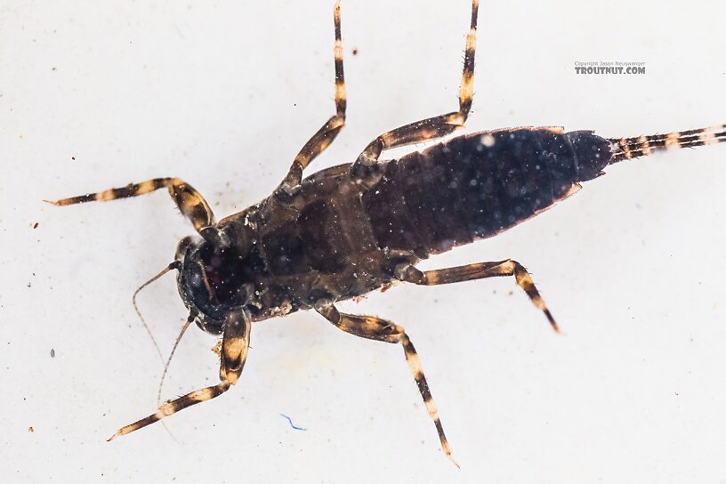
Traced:
[[[461, 470], [400, 348], [312, 313], [256, 325], [238, 385], [169, 418], [176, 440], [156, 424], [105, 441], [154, 410], [161, 366], [131, 294], [193, 230], [163, 192], [41, 200], [179, 176], [222, 218], [268, 195], [334, 112], [332, 7], [0, 4], [3, 480], [726, 479], [726, 145], [613, 166], [534, 220], [424, 264], [522, 262], [563, 336], [511, 278], [343, 304], [407, 327]], [[456, 109], [469, 9], [343, 2], [348, 125], [311, 172]], [[483, 2], [468, 130], [619, 137], [726, 122], [724, 19], [715, 0]], [[647, 74], [582, 77], [576, 60], [644, 60]], [[140, 303], [168, 351], [185, 316], [173, 277]], [[166, 398], [217, 379], [214, 338], [193, 329]]]

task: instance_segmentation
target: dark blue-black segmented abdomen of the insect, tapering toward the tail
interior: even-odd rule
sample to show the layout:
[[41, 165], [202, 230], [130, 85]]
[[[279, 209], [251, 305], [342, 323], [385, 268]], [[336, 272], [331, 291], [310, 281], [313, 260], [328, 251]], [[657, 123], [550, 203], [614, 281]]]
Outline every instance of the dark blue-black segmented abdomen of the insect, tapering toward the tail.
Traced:
[[389, 162], [363, 201], [379, 246], [425, 256], [528, 219], [610, 158], [610, 142], [591, 132], [475, 133]]

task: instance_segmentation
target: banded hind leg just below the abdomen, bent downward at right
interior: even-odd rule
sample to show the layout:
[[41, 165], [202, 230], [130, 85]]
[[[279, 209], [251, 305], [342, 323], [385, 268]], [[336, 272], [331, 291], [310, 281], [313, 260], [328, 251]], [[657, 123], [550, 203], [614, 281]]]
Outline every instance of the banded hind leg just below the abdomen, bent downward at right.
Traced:
[[524, 289], [529, 299], [535, 304], [536, 308], [542, 310], [547, 320], [555, 331], [560, 331], [557, 323], [554, 321], [553, 315], [542, 296], [539, 295], [535, 283], [529, 272], [522, 267], [520, 262], [507, 259], [500, 262], [479, 262], [459, 267], [451, 267], [448, 269], [425, 270], [416, 269], [410, 264], [400, 264], [396, 268], [396, 278], [404, 282], [411, 282], [422, 286], [437, 286], [439, 284], [450, 284], [452, 282], [463, 282], [472, 279], [484, 278], [501, 278], [503, 276], [514, 276], [517, 285]]

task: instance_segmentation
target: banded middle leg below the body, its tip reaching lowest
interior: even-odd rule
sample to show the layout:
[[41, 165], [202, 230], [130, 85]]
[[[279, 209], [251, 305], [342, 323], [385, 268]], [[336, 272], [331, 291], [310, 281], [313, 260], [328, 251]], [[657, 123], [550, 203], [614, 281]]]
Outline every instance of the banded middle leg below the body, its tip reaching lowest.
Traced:
[[[359, 316], [338, 312], [338, 310], [335, 309], [335, 306], [331, 303], [319, 303], [316, 305], [315, 309], [336, 327], [339, 327], [351, 335], [375, 341], [383, 341], [385, 343], [401, 343], [408, 367], [411, 368], [411, 372], [414, 374], [416, 386], [418, 386], [418, 391], [424, 399], [426, 410], [428, 410], [429, 415], [431, 415], [433, 424], [436, 425], [436, 432], [439, 433], [441, 448], [443, 448], [444, 453], [451, 462], [456, 464], [456, 461], [451, 456], [451, 448], [448, 447], [448, 440], [444, 433], [444, 428], [441, 425], [439, 412], [436, 409], [436, 404], [433, 402], [431, 391], [429, 391], [429, 384], [426, 383], [424, 369], [421, 367], [421, 362], [419, 361], [418, 354], [415, 351], [414, 343], [411, 343], [411, 340], [408, 339], [408, 335], [406, 334], [406, 331], [404, 331], [403, 327], [399, 327], [398, 325], [391, 323], [391, 321], [376, 318], [375, 316]], [[456, 464], [456, 467], [458, 466], [459, 464]]]

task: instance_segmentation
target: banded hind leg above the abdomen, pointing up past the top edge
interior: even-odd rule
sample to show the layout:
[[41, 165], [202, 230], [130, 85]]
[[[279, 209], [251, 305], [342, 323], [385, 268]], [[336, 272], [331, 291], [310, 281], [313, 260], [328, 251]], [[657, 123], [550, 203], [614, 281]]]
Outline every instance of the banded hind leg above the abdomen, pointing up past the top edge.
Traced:
[[459, 90], [459, 110], [437, 117], [429, 117], [381, 134], [360, 153], [351, 168], [351, 173], [360, 177], [375, 173], [372, 167], [378, 162], [378, 158], [385, 149], [433, 140], [464, 127], [466, 118], [469, 116], [469, 110], [472, 108], [478, 11], [479, 0], [472, 0], [472, 23], [466, 35], [464, 73], [462, 75], [461, 89]]

